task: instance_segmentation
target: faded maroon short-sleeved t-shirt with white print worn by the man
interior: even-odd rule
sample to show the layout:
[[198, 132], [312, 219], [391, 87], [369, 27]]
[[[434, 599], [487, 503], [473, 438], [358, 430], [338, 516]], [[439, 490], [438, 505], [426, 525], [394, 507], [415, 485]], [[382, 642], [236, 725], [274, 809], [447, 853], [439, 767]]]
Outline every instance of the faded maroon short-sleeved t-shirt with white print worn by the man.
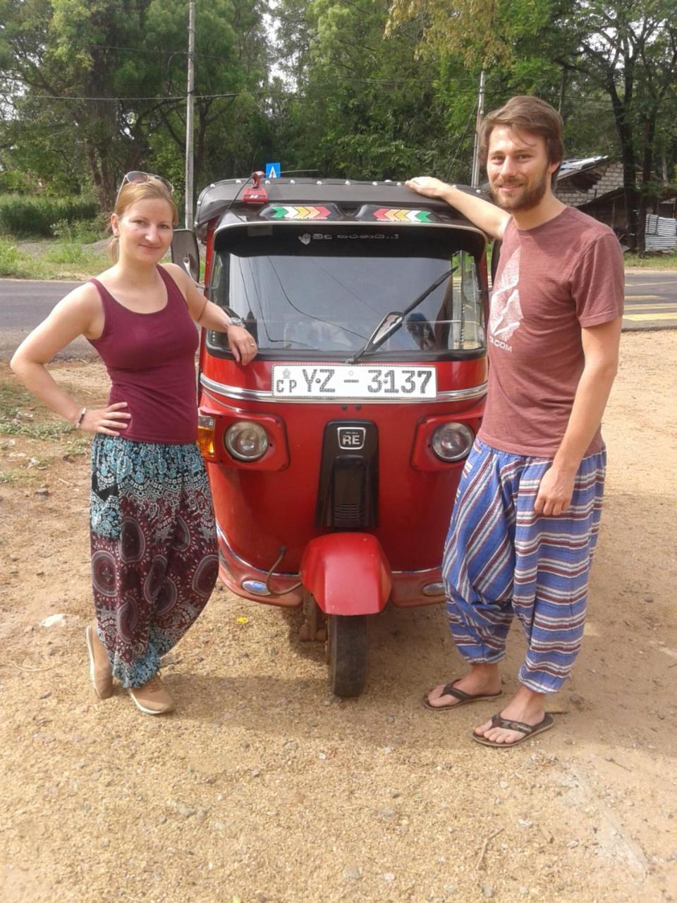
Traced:
[[[581, 327], [623, 313], [623, 255], [612, 230], [567, 207], [533, 229], [505, 228], [489, 314], [487, 408], [478, 438], [552, 458], [584, 358]], [[586, 454], [602, 447], [595, 434]]]

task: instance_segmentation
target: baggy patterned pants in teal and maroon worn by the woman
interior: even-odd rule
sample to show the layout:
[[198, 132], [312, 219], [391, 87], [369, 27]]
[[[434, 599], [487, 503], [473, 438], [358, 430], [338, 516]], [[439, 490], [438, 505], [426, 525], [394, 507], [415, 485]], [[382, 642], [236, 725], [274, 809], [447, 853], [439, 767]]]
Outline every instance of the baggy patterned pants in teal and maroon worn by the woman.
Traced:
[[217, 581], [214, 511], [198, 447], [97, 434], [89, 526], [98, 636], [113, 675], [141, 686]]

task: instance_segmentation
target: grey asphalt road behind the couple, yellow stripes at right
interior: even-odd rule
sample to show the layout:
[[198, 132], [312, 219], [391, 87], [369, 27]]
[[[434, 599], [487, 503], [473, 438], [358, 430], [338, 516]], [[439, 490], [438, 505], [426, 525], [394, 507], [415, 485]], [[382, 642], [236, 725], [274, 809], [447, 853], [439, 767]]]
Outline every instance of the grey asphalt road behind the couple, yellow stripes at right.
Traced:
[[[79, 283], [0, 279], [0, 360], [10, 358], [23, 337], [76, 285]], [[623, 327], [677, 329], [677, 272], [626, 273]], [[85, 339], [71, 342], [57, 355], [57, 359], [96, 357], [96, 351]]]

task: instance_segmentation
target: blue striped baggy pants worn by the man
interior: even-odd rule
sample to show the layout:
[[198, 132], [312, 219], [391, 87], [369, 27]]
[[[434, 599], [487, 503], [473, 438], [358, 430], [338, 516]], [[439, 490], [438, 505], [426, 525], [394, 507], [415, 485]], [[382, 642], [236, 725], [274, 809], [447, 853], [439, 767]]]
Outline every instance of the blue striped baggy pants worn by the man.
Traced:
[[470, 664], [499, 662], [516, 615], [528, 647], [519, 680], [537, 693], [559, 690], [579, 653], [606, 452], [580, 462], [564, 514], [538, 516], [533, 503], [551, 463], [476, 440], [442, 562], [451, 635], [460, 654]]

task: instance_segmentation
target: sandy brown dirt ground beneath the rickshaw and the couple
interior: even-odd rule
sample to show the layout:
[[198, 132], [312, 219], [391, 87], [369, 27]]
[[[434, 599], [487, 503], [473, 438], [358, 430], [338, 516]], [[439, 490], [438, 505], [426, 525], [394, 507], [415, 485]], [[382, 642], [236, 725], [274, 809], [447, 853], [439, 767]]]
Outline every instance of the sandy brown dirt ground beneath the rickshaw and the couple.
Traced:
[[[164, 668], [177, 712], [97, 701], [87, 437], [0, 435], [0, 899], [677, 899], [677, 332], [622, 352], [584, 647], [555, 729], [511, 750], [468, 739], [492, 703], [422, 708], [463, 668], [441, 606], [374, 619], [339, 701], [293, 613], [219, 587]], [[97, 364], [54, 372], [106, 396]], [[506, 693], [522, 654], [514, 628]]]

